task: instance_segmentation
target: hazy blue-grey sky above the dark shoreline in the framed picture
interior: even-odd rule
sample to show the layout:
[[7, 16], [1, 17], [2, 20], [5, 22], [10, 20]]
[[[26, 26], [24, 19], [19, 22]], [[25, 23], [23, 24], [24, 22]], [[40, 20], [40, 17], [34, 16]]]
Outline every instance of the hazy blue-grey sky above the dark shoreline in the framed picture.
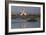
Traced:
[[11, 6], [11, 12], [12, 14], [17, 14], [20, 10], [23, 11], [23, 8], [25, 8], [25, 12], [29, 14], [40, 14], [40, 7]]

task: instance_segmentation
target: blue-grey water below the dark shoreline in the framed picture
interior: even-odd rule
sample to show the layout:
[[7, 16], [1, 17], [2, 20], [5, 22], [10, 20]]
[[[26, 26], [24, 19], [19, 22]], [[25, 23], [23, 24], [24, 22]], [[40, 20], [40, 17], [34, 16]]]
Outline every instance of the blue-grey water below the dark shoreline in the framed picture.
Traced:
[[25, 19], [16, 18], [11, 20], [11, 28], [39, 28], [40, 27], [40, 19], [36, 18], [36, 22], [27, 22]]

